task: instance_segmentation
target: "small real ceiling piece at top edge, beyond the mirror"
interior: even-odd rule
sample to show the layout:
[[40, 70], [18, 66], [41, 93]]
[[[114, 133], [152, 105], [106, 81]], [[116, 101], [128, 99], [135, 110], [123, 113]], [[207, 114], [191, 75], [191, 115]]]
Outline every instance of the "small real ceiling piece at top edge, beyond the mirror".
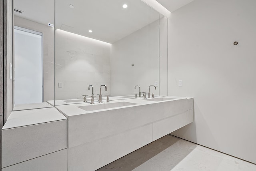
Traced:
[[185, 6], [186, 4], [194, 1], [194, 0], [156, 0], [162, 6], [164, 6], [170, 12], [174, 12], [175, 10]]

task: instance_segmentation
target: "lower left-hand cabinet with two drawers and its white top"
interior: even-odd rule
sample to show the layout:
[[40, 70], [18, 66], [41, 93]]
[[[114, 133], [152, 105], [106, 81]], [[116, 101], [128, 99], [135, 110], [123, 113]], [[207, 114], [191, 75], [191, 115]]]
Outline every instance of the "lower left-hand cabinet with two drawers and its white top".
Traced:
[[57, 109], [13, 111], [2, 128], [2, 170], [67, 170], [67, 148], [68, 120]]

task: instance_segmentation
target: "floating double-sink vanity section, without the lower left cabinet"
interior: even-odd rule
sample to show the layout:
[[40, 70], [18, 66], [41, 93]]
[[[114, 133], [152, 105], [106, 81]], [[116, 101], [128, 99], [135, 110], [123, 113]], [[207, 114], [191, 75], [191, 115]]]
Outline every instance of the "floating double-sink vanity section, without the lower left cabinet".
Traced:
[[193, 99], [56, 106], [68, 117], [68, 171], [93, 171], [193, 121]]

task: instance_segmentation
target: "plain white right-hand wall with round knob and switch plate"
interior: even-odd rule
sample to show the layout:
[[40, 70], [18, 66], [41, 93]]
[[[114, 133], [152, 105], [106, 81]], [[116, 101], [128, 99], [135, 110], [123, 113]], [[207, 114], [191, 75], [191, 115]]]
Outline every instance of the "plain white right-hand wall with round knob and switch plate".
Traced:
[[194, 97], [195, 112], [194, 123], [173, 135], [252, 163], [255, 7], [255, 0], [195, 0], [173, 12], [168, 24], [168, 94]]

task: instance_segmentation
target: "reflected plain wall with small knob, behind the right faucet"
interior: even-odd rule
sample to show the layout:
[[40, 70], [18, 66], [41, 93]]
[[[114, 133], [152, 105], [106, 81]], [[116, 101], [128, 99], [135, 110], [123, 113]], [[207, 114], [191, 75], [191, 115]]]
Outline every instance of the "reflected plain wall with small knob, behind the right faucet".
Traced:
[[[133, 95], [148, 92], [149, 85], [155, 85], [159, 76], [159, 22], [153, 22], [136, 32], [114, 42], [111, 48], [111, 93], [112, 95]], [[132, 66], [132, 64], [134, 66]], [[150, 92], [159, 95], [159, 87]], [[148, 97], [148, 94], [147, 94]]]

